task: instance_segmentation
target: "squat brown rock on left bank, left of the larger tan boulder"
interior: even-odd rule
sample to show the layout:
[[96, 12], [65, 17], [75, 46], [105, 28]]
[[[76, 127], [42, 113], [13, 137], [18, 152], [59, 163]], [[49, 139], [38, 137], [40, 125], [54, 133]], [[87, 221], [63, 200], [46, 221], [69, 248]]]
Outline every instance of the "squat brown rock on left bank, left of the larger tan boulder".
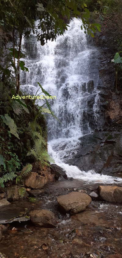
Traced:
[[19, 191], [19, 186], [17, 186], [17, 185], [12, 185], [8, 188], [5, 188], [7, 200], [8, 201], [18, 201], [20, 198], [18, 191]]

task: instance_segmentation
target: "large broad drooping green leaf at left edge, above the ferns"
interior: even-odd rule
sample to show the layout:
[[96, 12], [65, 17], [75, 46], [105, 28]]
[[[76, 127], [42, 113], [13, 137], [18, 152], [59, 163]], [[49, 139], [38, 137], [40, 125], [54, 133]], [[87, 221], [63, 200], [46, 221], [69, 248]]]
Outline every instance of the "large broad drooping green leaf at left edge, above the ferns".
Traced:
[[13, 119], [8, 114], [5, 114], [5, 116], [1, 115], [1, 118], [3, 120], [3, 123], [9, 126], [11, 134], [15, 135], [18, 139], [20, 139], [19, 135], [17, 134], [17, 126], [14, 123]]

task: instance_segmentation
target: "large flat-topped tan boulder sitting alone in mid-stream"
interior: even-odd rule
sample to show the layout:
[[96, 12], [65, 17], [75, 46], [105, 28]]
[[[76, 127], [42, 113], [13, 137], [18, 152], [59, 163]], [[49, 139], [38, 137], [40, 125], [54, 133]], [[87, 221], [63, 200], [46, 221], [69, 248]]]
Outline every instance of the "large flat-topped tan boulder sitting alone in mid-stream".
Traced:
[[71, 192], [57, 197], [57, 202], [66, 212], [75, 214], [86, 209], [91, 203], [91, 197], [85, 193]]

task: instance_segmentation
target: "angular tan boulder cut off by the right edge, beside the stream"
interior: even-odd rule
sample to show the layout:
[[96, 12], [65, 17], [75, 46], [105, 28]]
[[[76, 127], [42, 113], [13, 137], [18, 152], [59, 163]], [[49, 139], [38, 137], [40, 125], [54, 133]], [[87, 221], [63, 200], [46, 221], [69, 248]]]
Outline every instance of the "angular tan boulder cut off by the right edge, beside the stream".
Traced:
[[104, 201], [111, 203], [122, 203], [122, 187], [99, 186], [98, 192]]

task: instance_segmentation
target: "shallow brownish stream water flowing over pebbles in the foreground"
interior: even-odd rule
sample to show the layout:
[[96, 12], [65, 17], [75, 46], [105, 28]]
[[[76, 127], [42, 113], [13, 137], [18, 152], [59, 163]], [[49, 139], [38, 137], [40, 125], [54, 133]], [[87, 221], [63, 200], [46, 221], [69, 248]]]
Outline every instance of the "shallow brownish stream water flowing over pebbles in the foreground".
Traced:
[[[80, 183], [80, 185], [78, 185]], [[14, 207], [48, 209], [55, 212], [57, 217], [56, 228], [39, 228], [30, 222], [14, 222], [4, 233], [0, 243], [0, 252], [8, 258], [104, 258], [113, 254], [113, 258], [122, 257], [122, 206], [119, 204], [92, 201], [87, 209], [81, 213], [70, 216], [62, 214], [58, 209], [56, 197], [77, 191], [81, 181], [61, 181], [50, 183], [48, 193], [41, 195], [37, 202], [28, 200], [11, 204]], [[62, 187], [64, 186], [64, 188]], [[89, 193], [97, 185], [86, 185], [84, 192]], [[22, 204], [23, 203], [23, 204]], [[20, 211], [18, 211], [20, 214]], [[12, 230], [13, 226], [17, 228]], [[115, 256], [120, 253], [121, 256]], [[110, 256], [111, 257], [111, 256]]]

